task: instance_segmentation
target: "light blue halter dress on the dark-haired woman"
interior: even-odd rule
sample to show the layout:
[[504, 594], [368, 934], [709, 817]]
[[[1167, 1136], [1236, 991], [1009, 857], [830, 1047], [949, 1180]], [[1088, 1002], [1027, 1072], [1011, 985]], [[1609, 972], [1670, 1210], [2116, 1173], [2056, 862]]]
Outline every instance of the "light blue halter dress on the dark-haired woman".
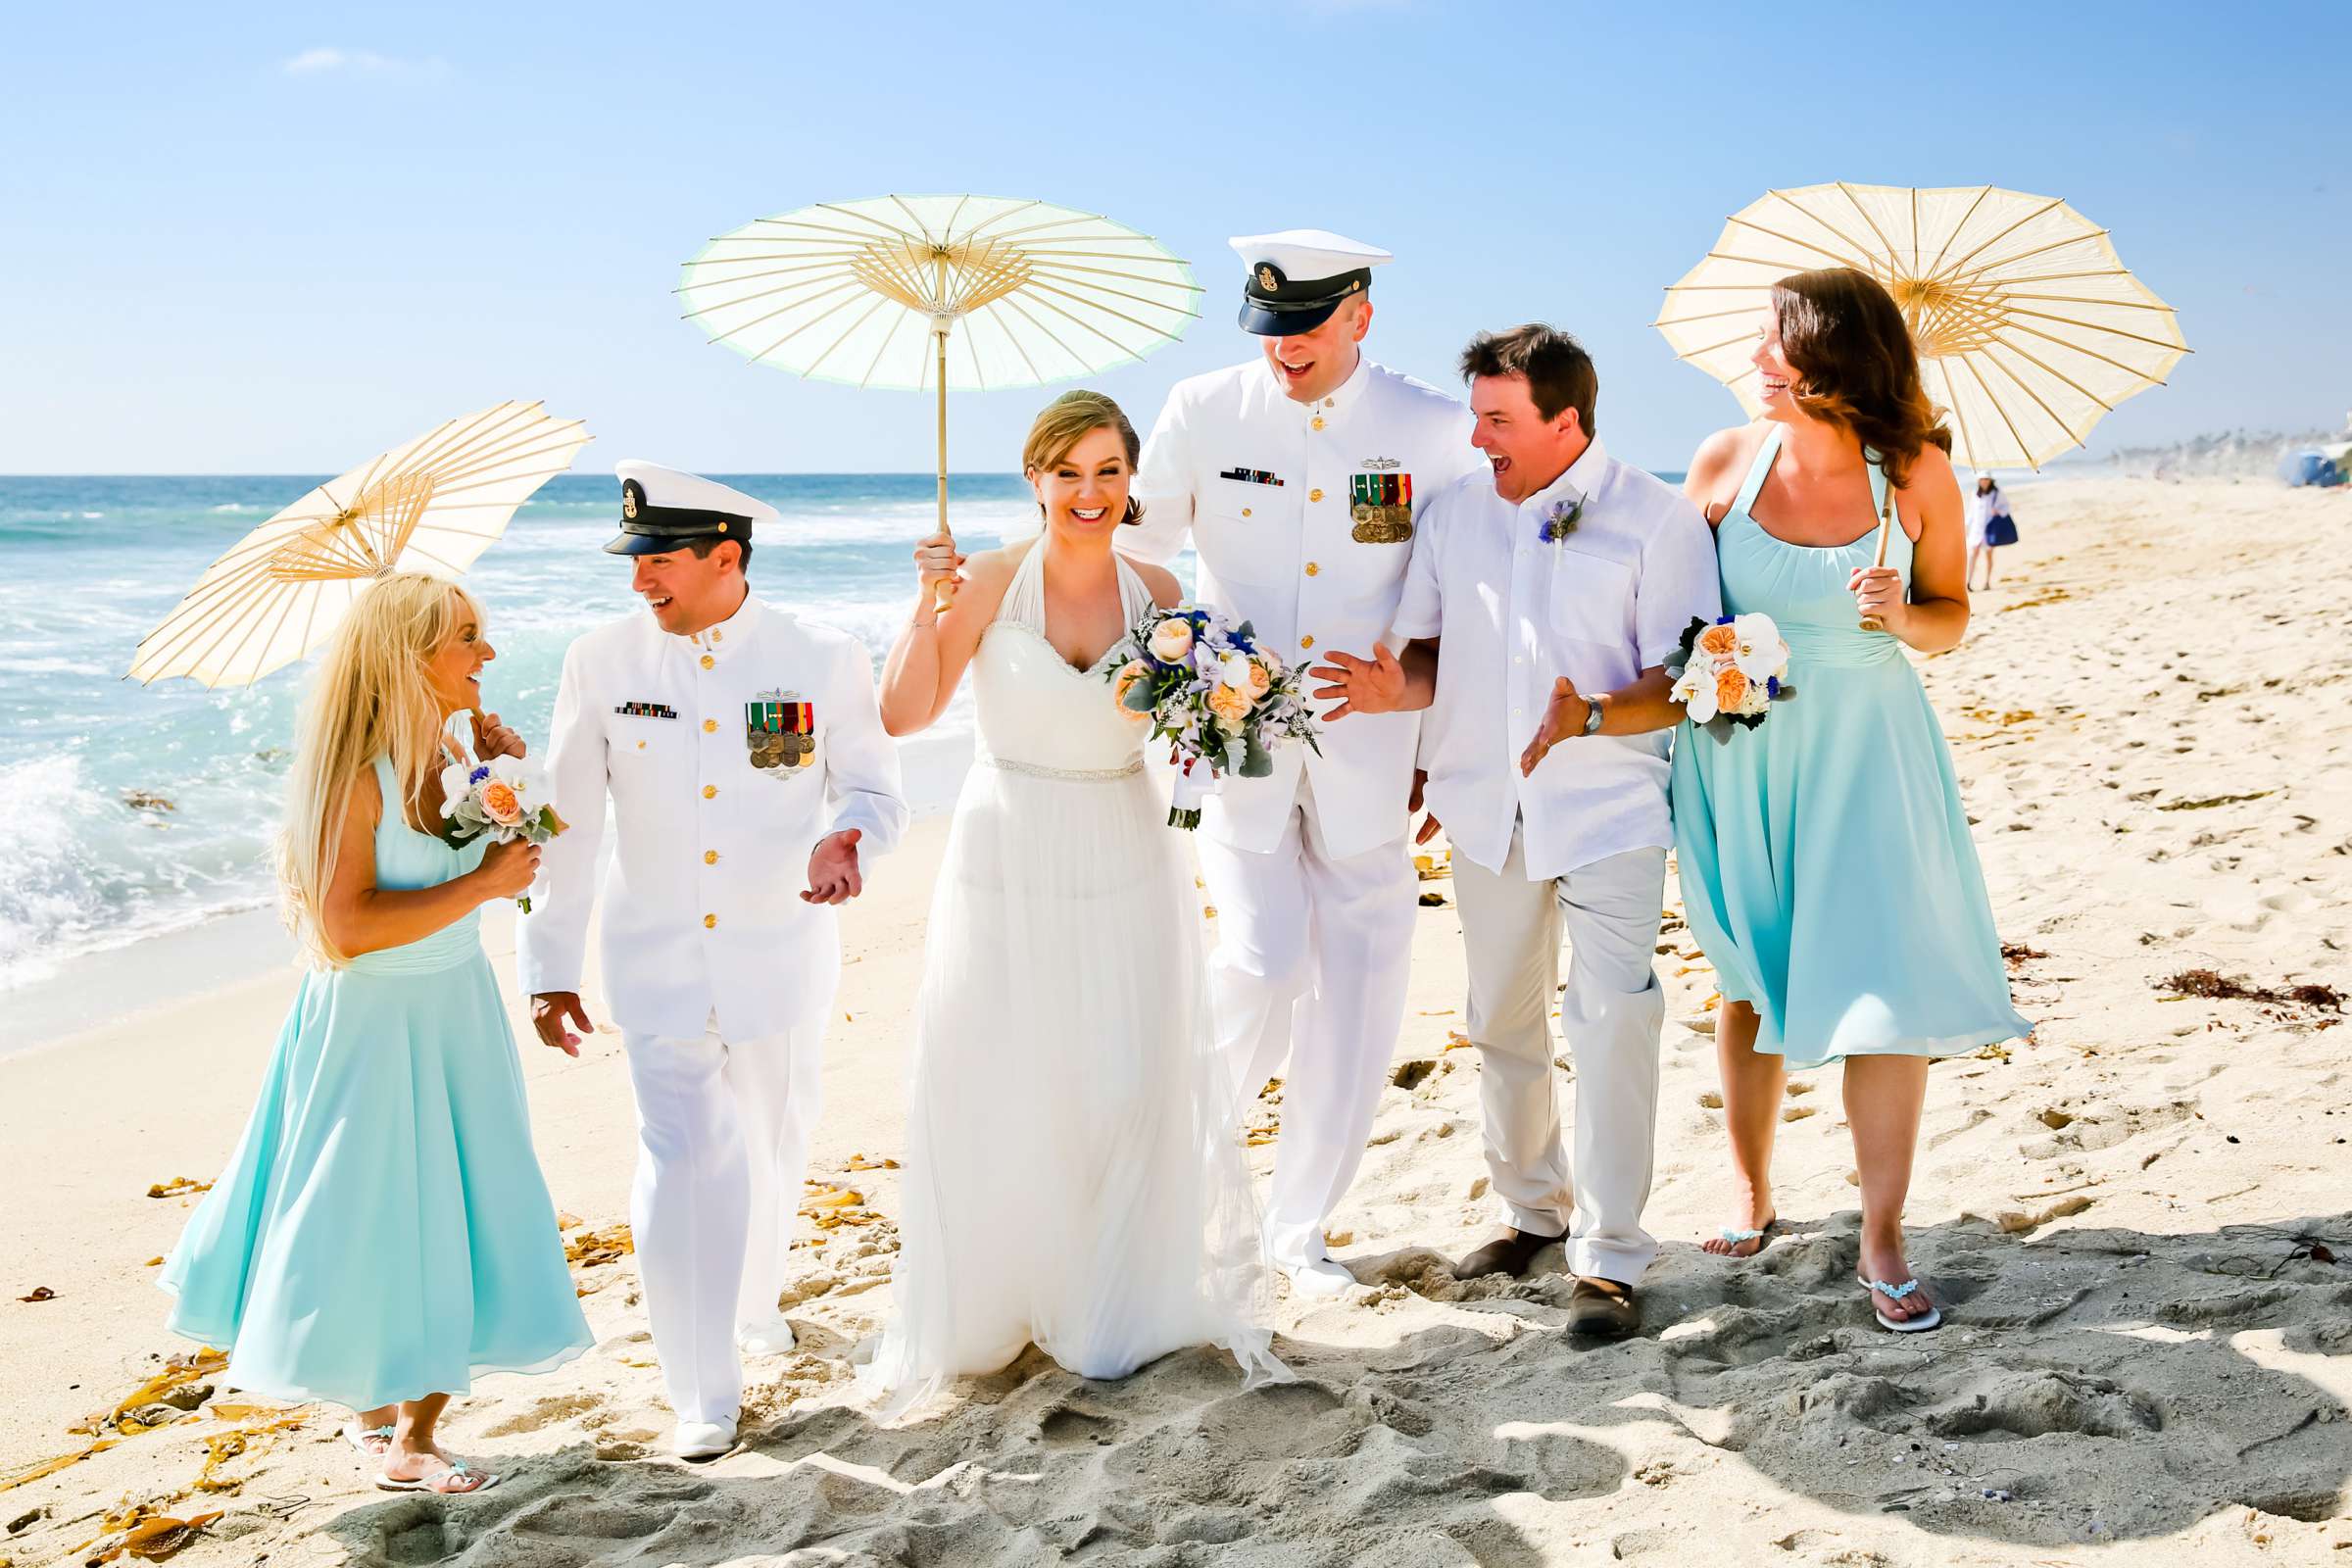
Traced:
[[[1858, 625], [1877, 529], [1792, 545], [1750, 515], [1773, 428], [1715, 531], [1724, 611], [1764, 611], [1797, 696], [1726, 743], [1675, 738], [1675, 863], [1684, 917], [1757, 1051], [1790, 1067], [1846, 1056], [1959, 1056], [2032, 1025], [2009, 1004], [1985, 875], [1952, 752], [1903, 644]], [[1886, 475], [1870, 468], [1872, 512]], [[1886, 564], [1910, 583], [1896, 524]]]

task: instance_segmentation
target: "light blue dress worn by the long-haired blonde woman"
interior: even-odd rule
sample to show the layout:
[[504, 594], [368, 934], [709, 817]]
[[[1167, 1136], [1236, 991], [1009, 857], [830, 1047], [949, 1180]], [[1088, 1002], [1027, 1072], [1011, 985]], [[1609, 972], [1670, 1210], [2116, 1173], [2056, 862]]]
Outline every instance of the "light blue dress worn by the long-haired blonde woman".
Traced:
[[[376, 886], [480, 865], [402, 820], [376, 759]], [[477, 933], [313, 971], [278, 1032], [228, 1171], [162, 1269], [172, 1333], [228, 1349], [228, 1382], [355, 1410], [539, 1373], [595, 1340], [532, 1154], [522, 1063]]]

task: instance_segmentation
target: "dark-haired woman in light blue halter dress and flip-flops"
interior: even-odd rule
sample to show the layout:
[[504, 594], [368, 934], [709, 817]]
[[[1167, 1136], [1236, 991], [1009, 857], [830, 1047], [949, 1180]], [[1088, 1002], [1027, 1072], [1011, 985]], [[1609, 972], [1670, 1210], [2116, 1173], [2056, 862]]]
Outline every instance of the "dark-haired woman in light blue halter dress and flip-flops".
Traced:
[[[1917, 1333], [1943, 1321], [1903, 1248], [1926, 1067], [2030, 1030], [1952, 755], [1905, 658], [1969, 630], [1952, 437], [1893, 299], [1849, 268], [1773, 287], [1755, 369], [1764, 416], [1710, 435], [1684, 484], [1715, 524], [1724, 611], [1780, 625], [1797, 686], [1759, 729], [1719, 745], [1684, 724], [1675, 745], [1675, 853], [1724, 994], [1743, 1208], [1708, 1251], [1766, 1244], [1788, 1070], [1842, 1060], [1860, 1284], [1882, 1326]], [[1875, 564], [1889, 489], [1896, 527]]]

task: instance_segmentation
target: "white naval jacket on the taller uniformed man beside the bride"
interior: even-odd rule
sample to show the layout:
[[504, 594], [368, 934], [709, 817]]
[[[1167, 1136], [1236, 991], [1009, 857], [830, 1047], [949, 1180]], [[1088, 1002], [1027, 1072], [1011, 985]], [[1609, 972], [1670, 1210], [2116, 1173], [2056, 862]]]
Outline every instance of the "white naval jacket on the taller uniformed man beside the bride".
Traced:
[[[1265, 360], [1178, 381], [1143, 444], [1136, 498], [1143, 522], [1120, 548], [1171, 559], [1192, 536], [1200, 599], [1294, 668], [1327, 654], [1369, 656], [1390, 639], [1411, 538], [1371, 538], [1355, 508], [1409, 508], [1484, 468], [1470, 447], [1470, 409], [1432, 386], [1362, 360], [1329, 397], [1291, 400]], [[1397, 501], [1385, 501], [1388, 487]], [[1404, 501], [1409, 496], [1409, 501]], [[1378, 522], [1378, 515], [1376, 515]], [[1312, 684], [1312, 682], [1310, 682]], [[1315, 703], [1322, 712], [1331, 703]], [[1336, 858], [1404, 832], [1421, 715], [1350, 715], [1322, 726], [1322, 755], [1275, 750], [1270, 778], [1228, 778], [1202, 811], [1202, 832], [1256, 853], [1282, 839], [1298, 773], [1315, 785], [1315, 816]]]

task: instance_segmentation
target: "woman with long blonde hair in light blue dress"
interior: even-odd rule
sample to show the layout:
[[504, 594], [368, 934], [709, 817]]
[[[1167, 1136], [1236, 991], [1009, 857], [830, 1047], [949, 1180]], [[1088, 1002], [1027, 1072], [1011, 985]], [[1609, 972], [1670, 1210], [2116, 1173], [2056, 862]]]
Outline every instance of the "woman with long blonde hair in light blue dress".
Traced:
[[[593, 1345], [532, 1157], [522, 1065], [480, 907], [539, 851], [437, 835], [447, 724], [496, 654], [435, 576], [369, 585], [334, 632], [294, 750], [280, 849], [310, 973], [228, 1171], [162, 1269], [172, 1333], [228, 1347], [228, 1382], [322, 1399], [376, 1486], [477, 1493], [437, 1422], [492, 1371]], [[515, 750], [477, 719], [485, 755]]]

